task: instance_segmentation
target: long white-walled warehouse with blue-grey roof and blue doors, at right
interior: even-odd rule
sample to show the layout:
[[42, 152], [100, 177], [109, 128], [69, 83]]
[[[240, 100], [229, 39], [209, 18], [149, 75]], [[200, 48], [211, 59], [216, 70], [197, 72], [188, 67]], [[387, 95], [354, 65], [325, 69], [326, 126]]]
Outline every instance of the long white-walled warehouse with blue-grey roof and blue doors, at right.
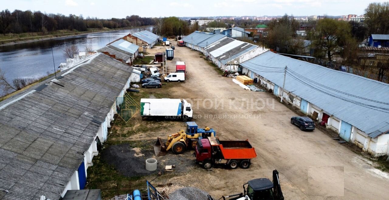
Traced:
[[[265, 52], [240, 64], [277, 97], [373, 156], [389, 154], [389, 84]], [[285, 88], [284, 67], [287, 66]]]

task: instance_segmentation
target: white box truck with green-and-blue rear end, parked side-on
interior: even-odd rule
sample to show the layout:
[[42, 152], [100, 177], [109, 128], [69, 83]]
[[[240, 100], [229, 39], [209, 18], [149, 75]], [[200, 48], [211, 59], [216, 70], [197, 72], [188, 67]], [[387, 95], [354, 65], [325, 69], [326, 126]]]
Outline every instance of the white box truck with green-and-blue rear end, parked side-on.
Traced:
[[140, 116], [166, 119], [182, 119], [186, 122], [192, 119], [193, 110], [190, 103], [185, 99], [170, 98], [142, 98], [140, 99]]

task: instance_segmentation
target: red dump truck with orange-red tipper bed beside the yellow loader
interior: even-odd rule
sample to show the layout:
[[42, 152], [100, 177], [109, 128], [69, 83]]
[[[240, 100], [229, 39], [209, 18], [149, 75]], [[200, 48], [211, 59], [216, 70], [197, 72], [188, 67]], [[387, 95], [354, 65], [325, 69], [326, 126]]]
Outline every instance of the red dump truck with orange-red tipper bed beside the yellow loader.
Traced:
[[238, 166], [247, 169], [251, 165], [251, 159], [255, 157], [257, 153], [247, 140], [222, 141], [216, 137], [208, 137], [200, 139], [195, 149], [196, 163], [205, 169], [219, 164], [231, 169], [237, 169]]

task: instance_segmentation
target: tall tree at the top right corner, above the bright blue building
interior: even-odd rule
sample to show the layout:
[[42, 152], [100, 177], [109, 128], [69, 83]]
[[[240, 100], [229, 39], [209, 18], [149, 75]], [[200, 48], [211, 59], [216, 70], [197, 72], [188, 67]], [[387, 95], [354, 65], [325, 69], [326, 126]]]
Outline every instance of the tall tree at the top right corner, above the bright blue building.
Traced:
[[389, 2], [370, 3], [364, 16], [369, 35], [389, 33]]

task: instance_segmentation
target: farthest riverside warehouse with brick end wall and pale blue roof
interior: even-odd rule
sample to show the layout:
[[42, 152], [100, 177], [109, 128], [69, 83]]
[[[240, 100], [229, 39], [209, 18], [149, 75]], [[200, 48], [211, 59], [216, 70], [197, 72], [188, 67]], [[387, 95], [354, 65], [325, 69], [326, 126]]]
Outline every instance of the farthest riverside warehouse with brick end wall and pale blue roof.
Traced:
[[140, 31], [136, 33], [130, 33], [123, 37], [124, 40], [127, 40], [135, 45], [141, 47], [151, 48], [156, 43], [158, 43], [159, 36], [151, 33], [150, 31]]

